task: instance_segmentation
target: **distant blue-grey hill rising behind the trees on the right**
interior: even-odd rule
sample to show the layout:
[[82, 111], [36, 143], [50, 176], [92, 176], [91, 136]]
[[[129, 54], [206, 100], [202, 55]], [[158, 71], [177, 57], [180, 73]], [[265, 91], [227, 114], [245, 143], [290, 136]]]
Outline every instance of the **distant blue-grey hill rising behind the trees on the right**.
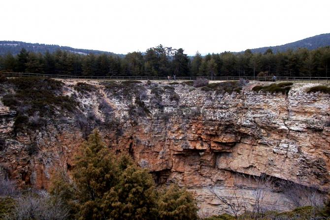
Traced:
[[326, 47], [326, 46], [330, 46], [330, 33], [323, 33], [320, 35], [308, 37], [293, 43], [287, 43], [280, 46], [270, 46], [270, 47], [251, 49], [251, 52], [263, 54], [268, 48], [272, 49], [273, 53], [283, 52], [288, 49], [297, 50], [298, 48], [307, 48], [308, 50], [314, 50], [319, 47]]

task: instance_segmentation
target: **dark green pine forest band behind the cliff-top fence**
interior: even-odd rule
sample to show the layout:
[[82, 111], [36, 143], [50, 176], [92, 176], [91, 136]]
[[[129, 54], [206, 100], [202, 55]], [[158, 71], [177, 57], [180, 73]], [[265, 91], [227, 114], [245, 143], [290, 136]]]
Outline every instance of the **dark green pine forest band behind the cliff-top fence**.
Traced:
[[159, 45], [146, 52], [132, 52], [125, 57], [109, 54], [81, 55], [58, 50], [33, 53], [22, 49], [13, 56], [0, 56], [0, 71], [61, 74], [75, 76], [312, 76], [328, 77], [330, 47], [316, 50], [264, 54], [246, 50], [189, 57], [182, 48]]

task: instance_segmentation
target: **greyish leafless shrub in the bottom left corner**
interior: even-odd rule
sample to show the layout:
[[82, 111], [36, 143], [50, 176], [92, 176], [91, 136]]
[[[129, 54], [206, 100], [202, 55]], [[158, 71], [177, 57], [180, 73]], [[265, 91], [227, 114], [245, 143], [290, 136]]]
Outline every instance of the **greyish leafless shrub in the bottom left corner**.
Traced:
[[7, 220], [65, 220], [69, 216], [69, 208], [61, 199], [49, 196], [28, 194], [17, 199], [13, 212], [6, 216]]

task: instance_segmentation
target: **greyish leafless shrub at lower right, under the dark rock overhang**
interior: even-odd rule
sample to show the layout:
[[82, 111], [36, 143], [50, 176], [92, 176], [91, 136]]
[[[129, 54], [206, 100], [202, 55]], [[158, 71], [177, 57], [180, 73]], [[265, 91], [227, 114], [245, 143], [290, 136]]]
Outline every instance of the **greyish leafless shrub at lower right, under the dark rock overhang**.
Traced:
[[296, 208], [302, 206], [322, 206], [324, 204], [324, 193], [313, 185], [303, 186], [292, 181], [282, 181], [279, 185], [280, 189], [294, 203]]

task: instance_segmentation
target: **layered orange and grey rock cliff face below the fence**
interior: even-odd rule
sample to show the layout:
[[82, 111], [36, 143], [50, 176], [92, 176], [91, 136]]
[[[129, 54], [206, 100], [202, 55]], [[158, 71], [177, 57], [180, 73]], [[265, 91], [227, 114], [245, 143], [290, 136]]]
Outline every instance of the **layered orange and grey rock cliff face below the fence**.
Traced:
[[240, 94], [143, 83], [137, 98], [99, 82], [87, 82], [97, 90], [85, 93], [73, 89], [77, 82], [63, 82], [82, 118], [66, 113], [14, 132], [16, 112], [0, 102], [0, 173], [22, 187], [47, 188], [55, 169], [69, 172], [93, 128], [114, 154], [130, 154], [149, 169], [158, 186], [174, 182], [192, 191], [200, 216], [231, 212], [218, 197], [235, 195], [252, 209], [260, 190], [267, 208], [291, 209], [283, 181], [321, 194], [330, 187], [330, 95], [305, 93], [312, 84], [294, 84], [286, 95], [252, 92], [258, 83]]

